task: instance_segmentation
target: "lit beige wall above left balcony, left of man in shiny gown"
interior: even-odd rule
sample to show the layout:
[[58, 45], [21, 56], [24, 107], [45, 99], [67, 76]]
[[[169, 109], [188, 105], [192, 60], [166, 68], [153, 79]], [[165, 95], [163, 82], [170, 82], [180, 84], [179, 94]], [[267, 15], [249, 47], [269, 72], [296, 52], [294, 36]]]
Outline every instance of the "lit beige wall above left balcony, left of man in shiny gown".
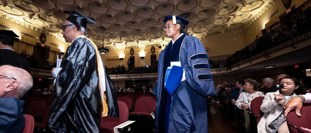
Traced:
[[[13, 30], [18, 36], [23, 36], [23, 37], [28, 38], [28, 39], [31, 39], [31, 38], [26, 36], [26, 35], [21, 34], [21, 31], [24, 32], [24, 33], [30, 34], [32, 36], [35, 36], [35, 38], [36, 37], [39, 38], [39, 36], [41, 34], [39, 32], [36, 32], [35, 30], [28, 29], [28, 28], [26, 28], [24, 26], [18, 25], [18, 24], [14, 23], [14, 22], [8, 21], [8, 20], [6, 20], [4, 18], [1, 18], [1, 17], [0, 17], [0, 24], [10, 27], [10, 29], [6, 29], [6, 28], [3, 28], [3, 27], [0, 27], [0, 30]], [[37, 42], [37, 43], [41, 43], [39, 39], [32, 38], [32, 40], [35, 40], [35, 42]], [[58, 44], [59, 47], [51, 45], [50, 42], [54, 43], [54, 44]], [[18, 42], [15, 41], [14, 45], [15, 46], [13, 47], [13, 49], [17, 52], [18, 51]], [[46, 42], [45, 42], [44, 45], [47, 45], [47, 46], [50, 46], [50, 47], [57, 47], [58, 49], [61, 50], [61, 52], [64, 52], [64, 53], [66, 53], [66, 50], [67, 50], [67, 48], [69, 46], [69, 44], [66, 44], [66, 43], [61, 42], [61, 41], [59, 41], [57, 39], [51, 38], [48, 35], [46, 37]], [[27, 45], [26, 53], [27, 54], [32, 54], [33, 53], [33, 47], [34, 47], [34, 45]], [[50, 52], [54, 52], [54, 51], [50, 51]], [[54, 57], [54, 59], [55, 59], [55, 57]]]

